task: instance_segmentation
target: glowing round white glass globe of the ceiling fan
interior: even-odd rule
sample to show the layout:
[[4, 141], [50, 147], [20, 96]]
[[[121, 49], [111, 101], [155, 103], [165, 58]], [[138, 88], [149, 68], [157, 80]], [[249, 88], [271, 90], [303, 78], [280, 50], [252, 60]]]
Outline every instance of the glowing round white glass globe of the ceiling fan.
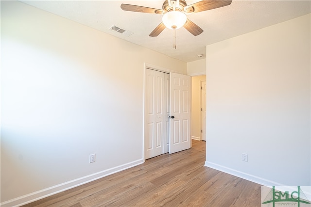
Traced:
[[162, 17], [163, 24], [171, 30], [181, 28], [186, 21], [187, 16], [179, 11], [168, 12]]

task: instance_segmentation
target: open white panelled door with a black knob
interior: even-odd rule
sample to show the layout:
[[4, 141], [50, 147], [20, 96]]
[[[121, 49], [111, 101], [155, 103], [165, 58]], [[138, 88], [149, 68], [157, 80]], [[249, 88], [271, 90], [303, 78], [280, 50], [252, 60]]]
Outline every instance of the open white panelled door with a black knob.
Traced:
[[170, 73], [170, 154], [191, 147], [191, 78]]

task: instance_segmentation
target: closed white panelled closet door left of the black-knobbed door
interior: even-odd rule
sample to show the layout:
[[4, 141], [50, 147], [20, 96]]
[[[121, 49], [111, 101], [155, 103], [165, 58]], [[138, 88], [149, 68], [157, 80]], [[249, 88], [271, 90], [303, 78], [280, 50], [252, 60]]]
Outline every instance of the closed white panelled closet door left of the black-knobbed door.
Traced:
[[169, 74], [147, 69], [145, 77], [145, 159], [169, 152]]

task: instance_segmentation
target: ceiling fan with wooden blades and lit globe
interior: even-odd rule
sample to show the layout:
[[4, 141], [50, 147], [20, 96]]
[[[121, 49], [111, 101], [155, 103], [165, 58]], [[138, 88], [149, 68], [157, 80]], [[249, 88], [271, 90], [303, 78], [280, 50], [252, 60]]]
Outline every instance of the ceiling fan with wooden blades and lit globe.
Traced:
[[122, 3], [121, 9], [124, 11], [163, 15], [162, 22], [149, 34], [151, 37], [158, 36], [165, 29], [165, 27], [173, 29], [174, 31], [175, 29], [184, 27], [191, 34], [197, 36], [201, 34], [203, 30], [198, 25], [190, 21], [186, 15], [227, 6], [231, 4], [231, 1], [232, 0], [201, 0], [187, 5], [185, 0], [165, 0], [162, 9]]

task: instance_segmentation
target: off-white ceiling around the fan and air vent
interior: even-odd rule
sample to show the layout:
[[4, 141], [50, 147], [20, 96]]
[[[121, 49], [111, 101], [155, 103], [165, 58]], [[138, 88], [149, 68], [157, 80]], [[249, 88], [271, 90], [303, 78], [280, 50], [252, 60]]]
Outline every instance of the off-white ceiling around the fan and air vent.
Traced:
[[[197, 1], [187, 0], [187, 4]], [[121, 3], [127, 3], [162, 9], [163, 0], [22, 2], [184, 62], [201, 59], [198, 55], [205, 56], [207, 45], [311, 13], [311, 0], [233, 0], [229, 6], [189, 15], [188, 18], [204, 32], [193, 36], [184, 28], [177, 30], [177, 47], [174, 49], [173, 30], [165, 29], [157, 37], [149, 37], [161, 22], [161, 15], [128, 12], [120, 8]], [[112, 25], [133, 34], [126, 36], [111, 31]]]

